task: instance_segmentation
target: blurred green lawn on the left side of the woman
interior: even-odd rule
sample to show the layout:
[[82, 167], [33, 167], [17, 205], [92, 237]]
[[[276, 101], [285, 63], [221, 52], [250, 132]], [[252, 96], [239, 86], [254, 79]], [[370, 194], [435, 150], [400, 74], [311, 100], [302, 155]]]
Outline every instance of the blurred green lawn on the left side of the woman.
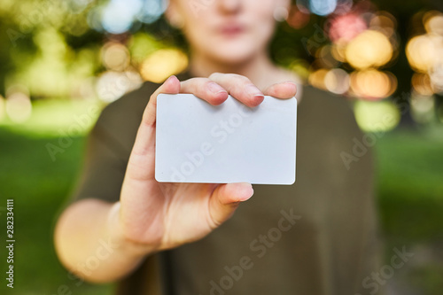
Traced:
[[[89, 107], [89, 103], [57, 101], [35, 105], [33, 117], [26, 124], [16, 126], [6, 121], [0, 125], [0, 219], [5, 219], [6, 199], [13, 198], [16, 240], [16, 288], [12, 291], [1, 283], [0, 294], [58, 295], [72, 291], [100, 295], [112, 290], [111, 285], [89, 285], [71, 279], [59, 264], [52, 243], [54, 221], [74, 186], [90, 125], [78, 123], [75, 116], [88, 113]], [[96, 118], [90, 119], [92, 122]], [[71, 127], [79, 128], [60, 133]], [[61, 142], [66, 148], [52, 160], [46, 145], [60, 147], [60, 134], [66, 136]], [[2, 273], [6, 271], [4, 249], [2, 246], [0, 251]]]

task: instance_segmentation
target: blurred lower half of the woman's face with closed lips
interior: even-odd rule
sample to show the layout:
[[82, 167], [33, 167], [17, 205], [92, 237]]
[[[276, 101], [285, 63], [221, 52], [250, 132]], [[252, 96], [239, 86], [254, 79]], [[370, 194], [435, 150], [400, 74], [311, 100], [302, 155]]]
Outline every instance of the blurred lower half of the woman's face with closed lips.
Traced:
[[167, 17], [183, 33], [194, 54], [237, 64], [267, 49], [286, 0], [171, 0]]

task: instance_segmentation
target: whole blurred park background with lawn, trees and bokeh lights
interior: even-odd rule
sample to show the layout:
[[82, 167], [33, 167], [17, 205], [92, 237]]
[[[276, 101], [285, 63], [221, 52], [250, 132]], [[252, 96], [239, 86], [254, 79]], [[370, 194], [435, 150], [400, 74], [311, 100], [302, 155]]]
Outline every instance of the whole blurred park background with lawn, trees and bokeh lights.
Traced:
[[[165, 8], [161, 0], [0, 3], [0, 219], [13, 198], [16, 239], [16, 288], [1, 283], [0, 293], [113, 290], [69, 276], [52, 230], [99, 110], [187, 66]], [[349, 100], [361, 129], [377, 138], [385, 263], [394, 247], [414, 253], [385, 280], [389, 294], [441, 294], [443, 2], [293, 1], [271, 53], [306, 83]]]

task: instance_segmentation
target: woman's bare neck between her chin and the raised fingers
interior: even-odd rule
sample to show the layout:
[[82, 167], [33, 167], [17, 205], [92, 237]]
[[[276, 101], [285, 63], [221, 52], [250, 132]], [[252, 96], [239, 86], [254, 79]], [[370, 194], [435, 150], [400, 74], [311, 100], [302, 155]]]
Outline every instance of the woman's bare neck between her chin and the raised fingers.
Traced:
[[190, 73], [198, 77], [208, 77], [215, 72], [241, 74], [248, 77], [260, 89], [268, 87], [268, 77], [276, 73], [277, 67], [263, 52], [243, 63], [227, 64], [205, 57], [203, 54], [190, 55]]

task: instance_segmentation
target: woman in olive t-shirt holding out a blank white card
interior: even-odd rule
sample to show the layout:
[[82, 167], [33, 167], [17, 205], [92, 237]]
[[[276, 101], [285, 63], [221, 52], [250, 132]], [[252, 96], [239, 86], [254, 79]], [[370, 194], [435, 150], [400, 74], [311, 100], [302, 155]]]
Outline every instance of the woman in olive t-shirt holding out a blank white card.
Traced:
[[[301, 100], [297, 77], [268, 58], [275, 15], [289, 5], [171, 1], [167, 19], [190, 44], [190, 69], [162, 85], [145, 83], [100, 116], [75, 202], [55, 231], [66, 268], [91, 282], [122, 280], [122, 294], [378, 290], [364, 285], [377, 270], [370, 155], [351, 171], [339, 156], [352, 152], [353, 139], [361, 138], [353, 114], [342, 98], [320, 90], [304, 89]], [[295, 184], [254, 191], [245, 182], [155, 181], [159, 93], [193, 93], [212, 105], [230, 94], [255, 107], [264, 95], [284, 99], [296, 91]]]

